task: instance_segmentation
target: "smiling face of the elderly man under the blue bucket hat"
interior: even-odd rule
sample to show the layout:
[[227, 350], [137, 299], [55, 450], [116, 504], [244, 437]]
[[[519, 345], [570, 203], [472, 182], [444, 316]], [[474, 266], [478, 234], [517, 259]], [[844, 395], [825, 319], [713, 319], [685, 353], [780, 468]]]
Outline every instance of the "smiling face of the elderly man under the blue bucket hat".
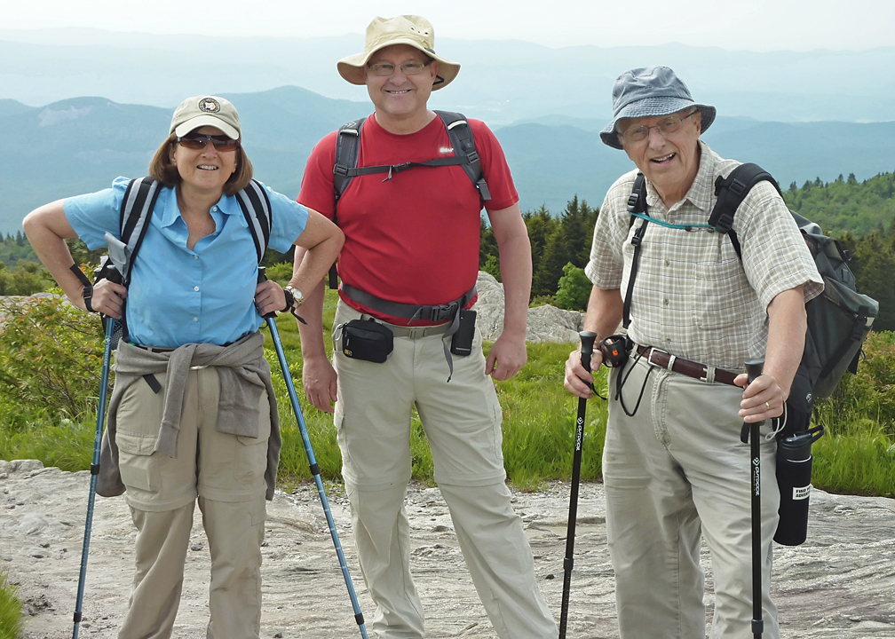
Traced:
[[[618, 122], [618, 135], [627, 157], [646, 176], [667, 207], [683, 200], [699, 171], [697, 150], [699, 133], [702, 132], [702, 113], [687, 111], [672, 114], [681, 119], [676, 130], [668, 115], [638, 117]], [[646, 138], [632, 140], [637, 127], [650, 127]]]

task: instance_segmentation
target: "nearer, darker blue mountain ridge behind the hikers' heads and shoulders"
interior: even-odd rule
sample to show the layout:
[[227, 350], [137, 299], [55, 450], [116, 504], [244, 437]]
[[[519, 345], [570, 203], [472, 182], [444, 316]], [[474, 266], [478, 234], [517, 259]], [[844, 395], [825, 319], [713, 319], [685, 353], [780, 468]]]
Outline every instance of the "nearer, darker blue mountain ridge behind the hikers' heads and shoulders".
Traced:
[[[240, 111], [256, 175], [293, 197], [314, 144], [371, 111], [369, 101], [325, 98], [298, 87], [225, 96]], [[451, 108], [463, 110], [460, 105]], [[171, 113], [169, 108], [106, 98], [70, 98], [40, 107], [0, 100], [5, 151], [0, 155], [0, 233], [14, 235], [22, 217], [47, 201], [107, 188], [117, 175], [145, 175], [149, 159], [165, 140]], [[575, 194], [600, 206], [609, 185], [633, 168], [624, 152], [599, 140], [601, 119], [533, 119], [492, 124], [524, 210], [544, 204], [556, 214]], [[815, 177], [830, 182], [854, 173], [864, 180], [895, 169], [895, 122], [767, 123], [721, 115], [703, 139], [722, 157], [762, 165], [784, 189]]]

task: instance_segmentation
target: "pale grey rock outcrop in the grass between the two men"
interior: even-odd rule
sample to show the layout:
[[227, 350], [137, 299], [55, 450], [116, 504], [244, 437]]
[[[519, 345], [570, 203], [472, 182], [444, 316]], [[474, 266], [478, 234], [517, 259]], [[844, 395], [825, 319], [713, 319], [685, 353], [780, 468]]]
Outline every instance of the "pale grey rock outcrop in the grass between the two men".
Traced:
[[[473, 310], [478, 313], [476, 324], [482, 330], [482, 337], [495, 340], [503, 331], [504, 293], [503, 285], [493, 276], [480, 270], [476, 282], [479, 299]], [[528, 328], [525, 340], [528, 342], [577, 342], [578, 331], [584, 329], [584, 313], [564, 311], [555, 306], [537, 306], [528, 310]]]

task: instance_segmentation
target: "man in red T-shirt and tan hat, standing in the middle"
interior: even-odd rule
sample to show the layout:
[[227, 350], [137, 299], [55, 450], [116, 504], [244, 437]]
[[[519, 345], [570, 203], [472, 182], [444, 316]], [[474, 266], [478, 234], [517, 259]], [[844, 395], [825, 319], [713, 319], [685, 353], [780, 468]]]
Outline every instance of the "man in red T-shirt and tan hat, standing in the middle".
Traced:
[[[366, 85], [375, 106], [360, 131], [357, 166], [394, 168], [453, 158], [446, 125], [427, 102], [431, 91], [447, 86], [459, 70], [459, 64], [435, 54], [429, 21], [418, 16], [372, 21], [363, 53], [338, 63], [345, 80]], [[558, 633], [535, 582], [522, 521], [510, 506], [500, 405], [489, 379], [512, 378], [527, 359], [531, 245], [503, 150], [485, 124], [469, 120], [468, 126], [490, 191], [485, 207], [499, 246], [506, 298], [504, 330], [487, 361], [477, 329], [470, 354], [447, 352], [455, 332], [468, 328], [457, 330], [457, 313], [475, 301], [478, 274], [482, 199], [463, 166], [354, 176], [338, 199], [336, 215], [338, 133], [333, 132], [311, 153], [298, 198], [309, 209], [335, 217], [345, 232], [333, 362], [323, 345], [321, 282], [304, 302], [307, 325], [299, 324], [303, 383], [308, 400], [320, 410], [333, 412], [331, 400], [336, 400], [358, 558], [377, 604], [370, 627], [380, 638], [424, 635], [422, 606], [409, 572], [404, 507], [413, 406], [429, 439], [435, 480], [460, 549], [495, 631], [513, 639]], [[302, 259], [296, 251], [296, 265]], [[348, 322], [370, 318], [393, 336], [385, 362], [359, 359], [359, 350], [346, 341]]]

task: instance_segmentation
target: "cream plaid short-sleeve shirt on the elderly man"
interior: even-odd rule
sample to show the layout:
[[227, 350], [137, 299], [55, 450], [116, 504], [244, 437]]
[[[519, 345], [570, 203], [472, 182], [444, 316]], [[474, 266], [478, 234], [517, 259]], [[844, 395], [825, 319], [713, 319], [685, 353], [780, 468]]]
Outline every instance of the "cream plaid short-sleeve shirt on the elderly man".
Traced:
[[[700, 145], [699, 172], [671, 209], [647, 181], [648, 215], [677, 225], [705, 224], [715, 205], [714, 183], [740, 163]], [[627, 199], [637, 171], [614, 183], [593, 231], [587, 276], [598, 288], [621, 289], [630, 276], [635, 230]], [[639, 345], [729, 371], [747, 359], [763, 359], [767, 307], [775, 295], [804, 285], [805, 302], [823, 291], [823, 280], [780, 194], [761, 182], [737, 209], [733, 228], [742, 247], [737, 257], [725, 234], [649, 224], [644, 234], [631, 299], [628, 335]]]

